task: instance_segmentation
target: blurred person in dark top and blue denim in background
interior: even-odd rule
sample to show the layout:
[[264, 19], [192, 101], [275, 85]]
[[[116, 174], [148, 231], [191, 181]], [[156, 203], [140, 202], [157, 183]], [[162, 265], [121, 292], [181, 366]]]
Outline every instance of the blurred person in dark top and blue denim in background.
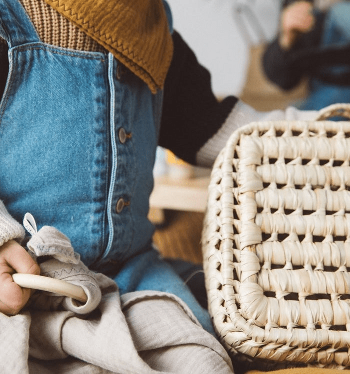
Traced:
[[308, 78], [299, 109], [350, 102], [350, 2], [333, 2], [283, 1], [278, 35], [262, 57], [267, 78], [284, 90]]

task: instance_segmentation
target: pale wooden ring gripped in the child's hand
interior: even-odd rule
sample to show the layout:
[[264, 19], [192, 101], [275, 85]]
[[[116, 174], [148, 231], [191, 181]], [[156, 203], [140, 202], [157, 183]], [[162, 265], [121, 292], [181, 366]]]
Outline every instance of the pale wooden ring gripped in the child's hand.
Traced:
[[78, 300], [82, 303], [86, 303], [87, 301], [87, 296], [80, 286], [62, 281], [61, 279], [23, 273], [12, 274], [12, 279], [13, 282], [20, 287], [53, 292], [61, 296], [67, 296], [69, 298]]

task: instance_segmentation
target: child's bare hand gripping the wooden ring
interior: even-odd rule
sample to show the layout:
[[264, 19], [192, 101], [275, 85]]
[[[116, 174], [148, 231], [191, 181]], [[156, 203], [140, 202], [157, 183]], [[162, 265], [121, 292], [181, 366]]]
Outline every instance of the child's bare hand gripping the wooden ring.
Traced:
[[17, 314], [28, 301], [31, 290], [13, 282], [11, 274], [40, 274], [40, 268], [26, 250], [10, 240], [0, 247], [0, 312]]

